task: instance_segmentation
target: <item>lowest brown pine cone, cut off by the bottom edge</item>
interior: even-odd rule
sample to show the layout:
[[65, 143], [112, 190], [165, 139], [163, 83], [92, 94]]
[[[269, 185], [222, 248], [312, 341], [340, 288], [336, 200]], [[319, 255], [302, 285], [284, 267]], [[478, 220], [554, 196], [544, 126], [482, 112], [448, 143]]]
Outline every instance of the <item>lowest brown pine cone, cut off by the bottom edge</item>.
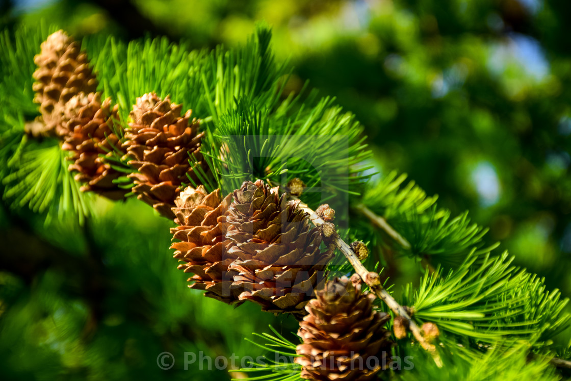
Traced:
[[[295, 359], [303, 366], [301, 378], [370, 380], [381, 370], [383, 355], [391, 356], [391, 332], [383, 328], [390, 316], [373, 310], [360, 282], [346, 276], [331, 280], [305, 309], [309, 315], [297, 331], [303, 339], [296, 350], [301, 356]], [[368, 360], [372, 356], [376, 359]]]

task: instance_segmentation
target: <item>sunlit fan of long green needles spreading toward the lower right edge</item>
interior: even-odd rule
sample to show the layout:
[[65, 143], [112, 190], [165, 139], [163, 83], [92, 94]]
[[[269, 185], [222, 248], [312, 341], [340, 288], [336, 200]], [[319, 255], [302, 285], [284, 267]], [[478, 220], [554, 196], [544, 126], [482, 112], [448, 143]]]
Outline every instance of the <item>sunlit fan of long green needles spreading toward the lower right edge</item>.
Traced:
[[544, 280], [512, 266], [507, 252], [474, 266], [472, 254], [456, 270], [423, 276], [419, 287], [409, 284], [403, 304], [414, 306], [419, 323], [434, 322], [449, 345], [478, 347], [505, 338], [521, 338], [535, 346], [548, 346], [569, 324], [564, 312], [569, 299], [558, 290], [546, 292]]

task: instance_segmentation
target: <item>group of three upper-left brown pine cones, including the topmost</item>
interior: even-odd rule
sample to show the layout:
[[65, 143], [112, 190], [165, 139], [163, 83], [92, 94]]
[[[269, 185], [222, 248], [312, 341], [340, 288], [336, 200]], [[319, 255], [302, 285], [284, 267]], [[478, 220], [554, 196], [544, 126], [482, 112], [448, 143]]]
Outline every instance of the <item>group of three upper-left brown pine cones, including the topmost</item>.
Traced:
[[[182, 106], [143, 94], [130, 111], [124, 136], [118, 127], [118, 107], [110, 98], [96, 93], [98, 81], [79, 43], [63, 31], [51, 34], [34, 58], [35, 102], [41, 117], [28, 126], [34, 136], [58, 137], [62, 149], [70, 151], [69, 169], [83, 183], [82, 190], [110, 199], [122, 199], [127, 192], [153, 206], [160, 214], [174, 218], [171, 208], [180, 186], [188, 177], [196, 179], [191, 158], [204, 166], [200, 154], [202, 134], [199, 121], [184, 115]], [[128, 175], [131, 189], [119, 187], [122, 172], [111, 165], [112, 156], [134, 169]], [[205, 166], [204, 166], [205, 167]]]

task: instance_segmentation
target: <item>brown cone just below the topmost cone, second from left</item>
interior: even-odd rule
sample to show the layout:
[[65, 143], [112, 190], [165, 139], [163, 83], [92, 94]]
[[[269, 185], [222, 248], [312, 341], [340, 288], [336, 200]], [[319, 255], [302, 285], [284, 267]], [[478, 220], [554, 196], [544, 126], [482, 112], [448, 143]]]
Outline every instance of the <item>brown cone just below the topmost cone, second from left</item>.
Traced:
[[75, 180], [85, 182], [83, 191], [94, 191], [110, 199], [122, 199], [127, 190], [113, 181], [120, 173], [111, 168], [101, 155], [110, 155], [118, 147], [119, 139], [111, 130], [111, 118], [116, 118], [117, 107], [111, 109], [111, 99], [103, 104], [99, 93], [74, 95], [66, 103], [62, 129], [67, 131], [62, 149], [73, 152], [70, 171], [78, 171]]

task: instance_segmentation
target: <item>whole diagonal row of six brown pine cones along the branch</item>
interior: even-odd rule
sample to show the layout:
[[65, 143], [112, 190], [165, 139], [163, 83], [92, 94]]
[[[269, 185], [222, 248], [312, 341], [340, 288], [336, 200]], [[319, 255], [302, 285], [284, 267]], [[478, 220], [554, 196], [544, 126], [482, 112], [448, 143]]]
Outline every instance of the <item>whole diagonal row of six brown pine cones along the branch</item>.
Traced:
[[[250, 300], [264, 311], [300, 319], [296, 362], [303, 378], [369, 380], [381, 370], [378, 359], [372, 367], [368, 360], [390, 353], [391, 333], [384, 328], [389, 316], [373, 308], [374, 295], [361, 292], [359, 276], [325, 282], [333, 248], [321, 249], [322, 232], [298, 208], [299, 200], [261, 180], [228, 195], [202, 185], [181, 191], [189, 178], [198, 182], [190, 157], [208, 171], [200, 152], [203, 133], [191, 110], [182, 114], [168, 97], [143, 94], [123, 130], [118, 106], [96, 93], [86, 54], [63, 31], [42, 43], [35, 63], [41, 117], [28, 133], [61, 139], [82, 190], [110, 199], [134, 192], [173, 219], [178, 242], [171, 248], [179, 268], [192, 274], [189, 287], [225, 303]], [[131, 189], [118, 186], [123, 174], [111, 165], [118, 156], [131, 166]], [[303, 189], [300, 182], [288, 186], [291, 194]], [[331, 208], [321, 214], [334, 218]]]

